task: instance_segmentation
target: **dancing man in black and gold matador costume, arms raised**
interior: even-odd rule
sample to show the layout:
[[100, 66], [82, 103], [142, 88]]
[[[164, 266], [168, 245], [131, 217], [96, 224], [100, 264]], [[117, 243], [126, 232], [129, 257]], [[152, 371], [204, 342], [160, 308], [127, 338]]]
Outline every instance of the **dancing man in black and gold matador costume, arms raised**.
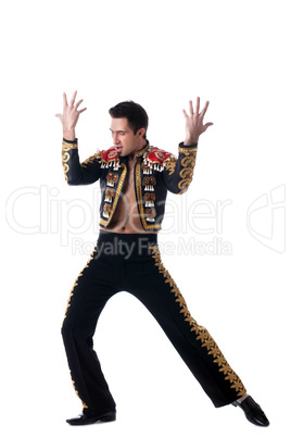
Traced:
[[147, 139], [148, 115], [127, 101], [110, 110], [113, 147], [81, 164], [75, 127], [83, 100], [71, 103], [64, 93], [62, 159], [68, 185], [100, 180], [100, 234], [85, 269], [69, 295], [62, 336], [74, 388], [83, 414], [71, 425], [110, 422], [116, 408], [93, 350], [93, 334], [107, 300], [119, 291], [138, 298], [153, 314], [215, 407], [240, 405], [258, 426], [269, 422], [226, 361], [208, 332], [191, 316], [186, 301], [164, 267], [157, 245], [167, 191], [184, 193], [193, 176], [198, 141], [213, 123], [203, 124], [208, 102], [200, 112], [197, 99], [186, 118], [186, 139], [178, 158], [152, 147]]

